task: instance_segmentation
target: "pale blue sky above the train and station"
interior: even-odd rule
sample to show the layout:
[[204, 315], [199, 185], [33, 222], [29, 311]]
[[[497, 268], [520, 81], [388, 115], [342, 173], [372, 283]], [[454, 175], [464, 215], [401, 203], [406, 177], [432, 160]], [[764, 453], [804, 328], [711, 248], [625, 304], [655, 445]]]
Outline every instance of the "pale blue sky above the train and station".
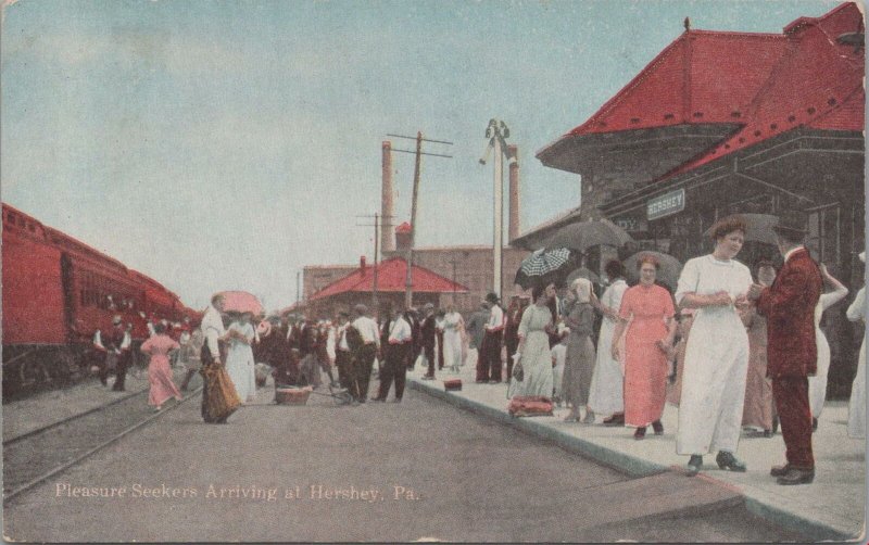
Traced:
[[[579, 204], [579, 178], [534, 152], [687, 15], [779, 33], [837, 3], [20, 0], [3, 12], [0, 195], [191, 306], [244, 289], [277, 308], [304, 265], [370, 259], [356, 216], [380, 211], [388, 132], [454, 142], [427, 145], [454, 157], [423, 162], [417, 243], [491, 244], [489, 118], [520, 150], [526, 230]], [[393, 166], [406, 220], [413, 156]]]

